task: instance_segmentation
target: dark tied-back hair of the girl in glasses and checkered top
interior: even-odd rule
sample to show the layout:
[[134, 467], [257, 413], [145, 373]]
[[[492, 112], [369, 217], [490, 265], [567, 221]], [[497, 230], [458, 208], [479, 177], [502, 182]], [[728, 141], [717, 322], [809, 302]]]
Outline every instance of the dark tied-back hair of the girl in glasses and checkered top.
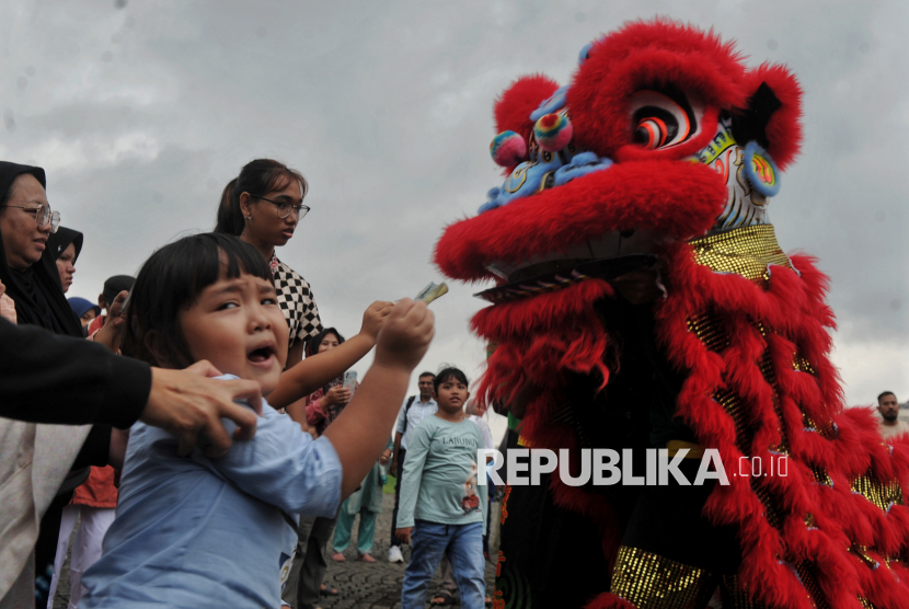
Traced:
[[249, 193], [253, 197], [263, 196], [274, 191], [283, 191], [290, 182], [300, 184], [302, 196], [307, 196], [309, 183], [299, 171], [272, 159], [250, 161], [240, 170], [240, 175], [228, 182], [221, 192], [215, 232], [240, 237], [246, 226], [243, 210], [240, 208], [240, 195]]

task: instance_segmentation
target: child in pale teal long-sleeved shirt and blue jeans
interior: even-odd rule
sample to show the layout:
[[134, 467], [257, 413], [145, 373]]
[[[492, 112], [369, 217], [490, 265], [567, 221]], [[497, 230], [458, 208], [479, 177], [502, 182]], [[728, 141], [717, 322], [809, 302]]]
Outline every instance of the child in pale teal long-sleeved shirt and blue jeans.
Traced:
[[468, 379], [446, 368], [434, 381], [438, 411], [407, 446], [398, 537], [413, 548], [404, 574], [402, 609], [422, 609], [442, 554], [451, 560], [463, 609], [484, 607], [483, 533], [486, 486], [477, 487], [480, 428], [464, 416]]

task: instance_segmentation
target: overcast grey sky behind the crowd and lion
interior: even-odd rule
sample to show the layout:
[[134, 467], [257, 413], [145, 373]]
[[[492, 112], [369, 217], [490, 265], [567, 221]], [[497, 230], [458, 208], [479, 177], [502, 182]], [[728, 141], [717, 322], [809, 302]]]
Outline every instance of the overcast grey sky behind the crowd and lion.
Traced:
[[[85, 233], [70, 296], [91, 299], [153, 248], [211, 229], [244, 163], [287, 162], [312, 211], [278, 255], [350, 335], [370, 301], [440, 279], [444, 227], [500, 184], [494, 97], [531, 71], [567, 82], [586, 43], [655, 14], [801, 79], [805, 146], [772, 221], [831, 278], [848, 402], [909, 399], [906, 2], [4, 0], [0, 159], [46, 168], [51, 205]], [[453, 284], [433, 304], [423, 368], [477, 376], [479, 289]]]

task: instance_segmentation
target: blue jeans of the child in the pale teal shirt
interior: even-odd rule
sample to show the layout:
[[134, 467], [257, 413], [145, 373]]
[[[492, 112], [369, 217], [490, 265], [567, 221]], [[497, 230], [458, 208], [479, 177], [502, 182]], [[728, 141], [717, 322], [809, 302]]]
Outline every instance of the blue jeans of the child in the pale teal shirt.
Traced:
[[411, 536], [411, 562], [404, 572], [401, 609], [423, 609], [429, 581], [448, 552], [462, 609], [483, 609], [486, 596], [483, 522], [440, 525], [417, 520]]

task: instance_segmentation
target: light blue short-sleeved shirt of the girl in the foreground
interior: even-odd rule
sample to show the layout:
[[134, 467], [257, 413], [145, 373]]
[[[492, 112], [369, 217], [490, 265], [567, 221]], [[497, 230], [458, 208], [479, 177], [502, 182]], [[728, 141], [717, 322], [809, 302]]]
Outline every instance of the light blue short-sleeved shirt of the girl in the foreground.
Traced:
[[174, 436], [131, 427], [116, 520], [82, 577], [80, 608], [280, 605], [280, 567], [297, 541], [288, 520], [333, 517], [342, 467], [327, 438], [264, 400], [262, 414], [255, 438], [220, 459], [198, 448], [179, 457]]

